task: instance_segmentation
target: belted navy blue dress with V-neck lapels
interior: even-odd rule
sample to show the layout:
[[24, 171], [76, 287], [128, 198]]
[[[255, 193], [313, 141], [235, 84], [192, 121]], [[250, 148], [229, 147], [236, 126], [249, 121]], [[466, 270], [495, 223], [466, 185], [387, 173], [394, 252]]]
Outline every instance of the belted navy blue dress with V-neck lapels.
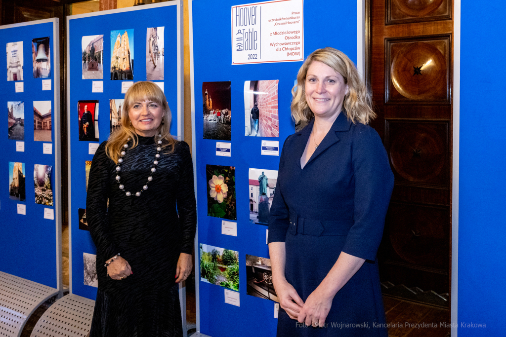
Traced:
[[342, 112], [301, 169], [313, 122], [284, 143], [268, 241], [285, 242], [285, 276], [303, 301], [341, 252], [366, 261], [335, 295], [326, 327], [300, 327], [280, 308], [277, 335], [388, 336], [376, 260], [394, 186], [387, 153], [374, 129]]

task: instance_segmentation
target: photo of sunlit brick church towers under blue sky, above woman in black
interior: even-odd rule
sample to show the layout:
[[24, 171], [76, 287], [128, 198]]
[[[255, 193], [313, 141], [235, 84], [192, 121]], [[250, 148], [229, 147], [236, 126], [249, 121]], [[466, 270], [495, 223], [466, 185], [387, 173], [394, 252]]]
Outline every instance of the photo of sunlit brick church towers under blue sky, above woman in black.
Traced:
[[134, 30], [111, 30], [111, 79], [134, 79]]

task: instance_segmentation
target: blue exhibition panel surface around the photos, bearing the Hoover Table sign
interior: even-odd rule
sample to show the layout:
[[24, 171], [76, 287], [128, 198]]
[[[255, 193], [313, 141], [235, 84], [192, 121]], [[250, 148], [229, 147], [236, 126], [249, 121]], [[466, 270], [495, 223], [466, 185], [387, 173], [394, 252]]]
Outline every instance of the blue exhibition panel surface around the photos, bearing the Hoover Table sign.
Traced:
[[[290, 116], [291, 89], [302, 62], [232, 65], [231, 8], [248, 2], [194, 0], [191, 3], [196, 149], [193, 156], [196, 156], [198, 244], [238, 252], [240, 299], [240, 306], [225, 303], [226, 288], [202, 281], [198, 277], [200, 332], [223, 337], [259, 334], [274, 336], [277, 324], [277, 319], [274, 318], [275, 302], [246, 294], [246, 254], [269, 258], [266, 244], [267, 226], [249, 221], [248, 170], [278, 169], [279, 156], [261, 155], [261, 145], [265, 140], [279, 141], [281, 153], [284, 140], [294, 133]], [[356, 2], [305, 1], [303, 14], [304, 58], [316, 49], [331, 46], [346, 53], [354, 62], [357, 61]], [[279, 137], [245, 136], [244, 82], [257, 80], [279, 80]], [[205, 102], [202, 83], [224, 81], [230, 81], [231, 85], [231, 140], [204, 139], [202, 107]], [[230, 157], [216, 155], [217, 141], [231, 143]], [[209, 178], [206, 177], [206, 165], [235, 167], [237, 221], [227, 221], [237, 223], [237, 236], [222, 234], [224, 219], [207, 215]], [[198, 256], [197, 247], [197, 259]]]

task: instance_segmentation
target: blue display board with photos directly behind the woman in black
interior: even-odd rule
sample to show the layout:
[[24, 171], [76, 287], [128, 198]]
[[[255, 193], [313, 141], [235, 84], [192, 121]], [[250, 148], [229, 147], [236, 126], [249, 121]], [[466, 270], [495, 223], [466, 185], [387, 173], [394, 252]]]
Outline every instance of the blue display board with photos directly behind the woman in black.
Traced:
[[[163, 85], [172, 112], [171, 133], [181, 139], [183, 129], [181, 13], [182, 3], [178, 0], [67, 18], [70, 292], [72, 294], [93, 300], [97, 294], [95, 286], [85, 284], [83, 254], [94, 255], [96, 248], [90, 232], [79, 229], [79, 227], [86, 228], [86, 225], [83, 226], [82, 223], [79, 226], [82, 220], [79, 209], [86, 208], [86, 161], [93, 159], [93, 154], [90, 154], [90, 144], [92, 147], [97, 146], [109, 137], [110, 111], [112, 105], [115, 106], [113, 109], [116, 109], [119, 107], [117, 101], [124, 99], [124, 93], [121, 93], [122, 85], [127, 82], [145, 80], [152, 80]], [[154, 27], [157, 28], [156, 31], [150, 30]], [[153, 39], [158, 45], [156, 67], [152, 62], [151, 55], [153, 54], [149, 48]], [[93, 59], [92, 46], [94, 47]], [[84, 61], [85, 58], [86, 61]], [[90, 63], [95, 60], [95, 64]], [[102, 92], [93, 92], [94, 86], [95, 88], [102, 87], [102, 89], [95, 89]], [[115, 102], [112, 103], [110, 100], [115, 100]], [[93, 116], [98, 137], [96, 133], [93, 136], [90, 134], [83, 137], [79, 111], [83, 112], [84, 105], [87, 105], [88, 111], [98, 113], [98, 118], [96, 115]], [[113, 124], [115, 118], [117, 117], [112, 118]], [[79, 140], [80, 138], [91, 140]], [[102, 261], [97, 263], [102, 263]], [[90, 283], [88, 277], [87, 280]], [[93, 280], [91, 284], [94, 284]]]

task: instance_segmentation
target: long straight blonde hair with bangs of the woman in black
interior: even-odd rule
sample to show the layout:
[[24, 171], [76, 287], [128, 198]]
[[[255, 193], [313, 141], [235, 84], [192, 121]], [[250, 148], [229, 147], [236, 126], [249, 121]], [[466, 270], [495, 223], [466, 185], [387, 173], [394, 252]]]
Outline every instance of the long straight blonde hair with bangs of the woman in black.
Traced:
[[[109, 157], [114, 163], [118, 162], [123, 149], [123, 144], [128, 142], [127, 139], [129, 137], [133, 140], [133, 145], [130, 149], [135, 148], [139, 143], [139, 138], [132, 126], [132, 121], [130, 120], [129, 111], [132, 105], [137, 102], [144, 101], [156, 102], [162, 108], [164, 112], [162, 123], [156, 129], [155, 134], [161, 134], [161, 139], [163, 141], [161, 148], [164, 153], [170, 154], [174, 151], [176, 140], [172, 137], [170, 132], [172, 114], [171, 109], [168, 107], [165, 94], [161, 91], [158, 85], [153, 82], [137, 82], [125, 93], [125, 99], [121, 109], [121, 128], [109, 136], [105, 146], [105, 153], [107, 154], [107, 157]], [[155, 137], [153, 145], [156, 144], [158, 139], [160, 138]]]

